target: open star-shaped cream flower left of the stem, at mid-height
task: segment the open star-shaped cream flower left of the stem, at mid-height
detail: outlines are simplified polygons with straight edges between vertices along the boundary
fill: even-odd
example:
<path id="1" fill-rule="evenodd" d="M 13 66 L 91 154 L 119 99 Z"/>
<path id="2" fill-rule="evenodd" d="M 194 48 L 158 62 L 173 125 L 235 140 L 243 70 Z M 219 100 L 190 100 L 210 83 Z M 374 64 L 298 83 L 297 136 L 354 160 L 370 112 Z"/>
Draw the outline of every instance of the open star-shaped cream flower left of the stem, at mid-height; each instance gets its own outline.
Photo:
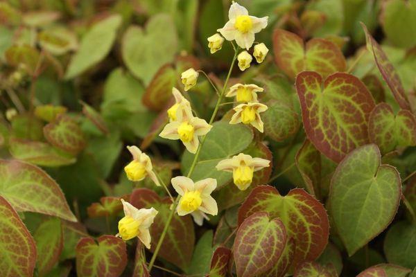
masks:
<path id="1" fill-rule="evenodd" d="M 176 113 L 175 121 L 166 124 L 159 136 L 164 139 L 180 139 L 187 150 L 196 153 L 198 149 L 198 136 L 203 136 L 212 128 L 207 121 L 192 115 L 188 109 Z"/>

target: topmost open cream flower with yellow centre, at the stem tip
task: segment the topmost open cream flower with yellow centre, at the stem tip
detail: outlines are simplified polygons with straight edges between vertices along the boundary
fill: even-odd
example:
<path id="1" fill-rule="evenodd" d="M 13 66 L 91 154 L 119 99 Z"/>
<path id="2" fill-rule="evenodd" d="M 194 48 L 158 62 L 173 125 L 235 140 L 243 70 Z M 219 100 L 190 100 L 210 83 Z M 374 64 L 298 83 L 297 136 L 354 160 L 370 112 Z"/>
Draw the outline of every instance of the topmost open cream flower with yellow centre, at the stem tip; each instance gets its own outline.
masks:
<path id="1" fill-rule="evenodd" d="M 223 28 L 218 29 L 225 39 L 236 43 L 247 50 L 253 45 L 254 34 L 266 28 L 268 17 L 252 17 L 248 10 L 238 3 L 232 2 L 228 11 L 228 21 Z"/>

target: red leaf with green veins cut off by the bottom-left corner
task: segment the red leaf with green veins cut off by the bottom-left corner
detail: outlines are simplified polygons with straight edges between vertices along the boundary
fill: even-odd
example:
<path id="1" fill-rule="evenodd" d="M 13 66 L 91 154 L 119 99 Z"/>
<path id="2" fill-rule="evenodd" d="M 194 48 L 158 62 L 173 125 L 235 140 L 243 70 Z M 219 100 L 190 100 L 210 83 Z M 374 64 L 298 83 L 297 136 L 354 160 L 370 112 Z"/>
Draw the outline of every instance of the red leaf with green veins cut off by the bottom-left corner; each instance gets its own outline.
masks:
<path id="1" fill-rule="evenodd" d="M 36 245 L 15 209 L 0 196 L 0 272 L 4 277 L 33 276 Z"/>

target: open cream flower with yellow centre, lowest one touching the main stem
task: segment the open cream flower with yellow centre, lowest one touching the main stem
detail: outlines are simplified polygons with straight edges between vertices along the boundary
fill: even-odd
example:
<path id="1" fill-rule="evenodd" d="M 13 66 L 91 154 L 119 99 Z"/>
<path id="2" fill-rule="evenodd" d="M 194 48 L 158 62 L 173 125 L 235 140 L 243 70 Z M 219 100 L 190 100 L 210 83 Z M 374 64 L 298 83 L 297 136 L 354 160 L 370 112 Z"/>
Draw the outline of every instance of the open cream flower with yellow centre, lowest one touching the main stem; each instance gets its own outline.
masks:
<path id="1" fill-rule="evenodd" d="M 208 220 L 205 213 L 209 215 L 218 214 L 218 206 L 211 193 L 216 189 L 216 179 L 207 178 L 196 183 L 192 179 L 178 176 L 171 180 L 173 188 L 181 196 L 177 205 L 178 215 L 191 214 L 198 225 L 202 225 L 204 218 Z"/>

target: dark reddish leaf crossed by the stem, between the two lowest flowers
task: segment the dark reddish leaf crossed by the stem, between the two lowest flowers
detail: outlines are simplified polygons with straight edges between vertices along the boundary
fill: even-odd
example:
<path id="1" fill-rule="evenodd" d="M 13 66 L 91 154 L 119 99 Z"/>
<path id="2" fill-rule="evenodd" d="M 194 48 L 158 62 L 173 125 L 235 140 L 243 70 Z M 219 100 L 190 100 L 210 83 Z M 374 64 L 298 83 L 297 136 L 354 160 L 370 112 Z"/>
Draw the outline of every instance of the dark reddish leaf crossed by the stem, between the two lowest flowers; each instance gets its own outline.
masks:
<path id="1" fill-rule="evenodd" d="M 132 192 L 130 203 L 136 208 L 153 207 L 159 212 L 150 226 L 152 237 L 150 251 L 153 252 L 171 213 L 171 199 L 168 197 L 162 199 L 148 188 L 137 188 Z M 179 216 L 175 213 L 158 256 L 172 262 L 180 269 L 187 269 L 189 262 L 191 262 L 194 244 L 195 232 L 191 216 Z"/>

